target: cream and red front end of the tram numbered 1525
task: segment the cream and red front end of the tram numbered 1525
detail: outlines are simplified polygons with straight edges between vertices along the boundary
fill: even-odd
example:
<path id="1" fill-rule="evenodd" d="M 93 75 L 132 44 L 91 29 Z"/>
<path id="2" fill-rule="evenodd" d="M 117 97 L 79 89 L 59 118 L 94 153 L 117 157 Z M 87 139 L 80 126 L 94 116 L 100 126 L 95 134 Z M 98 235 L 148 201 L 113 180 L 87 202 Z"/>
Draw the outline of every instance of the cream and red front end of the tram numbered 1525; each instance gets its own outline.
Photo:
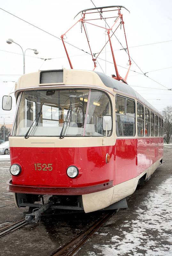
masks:
<path id="1" fill-rule="evenodd" d="M 114 96 L 108 89 L 92 71 L 19 79 L 8 181 L 17 207 L 33 207 L 43 195 L 58 209 L 91 212 L 111 204 Z"/>

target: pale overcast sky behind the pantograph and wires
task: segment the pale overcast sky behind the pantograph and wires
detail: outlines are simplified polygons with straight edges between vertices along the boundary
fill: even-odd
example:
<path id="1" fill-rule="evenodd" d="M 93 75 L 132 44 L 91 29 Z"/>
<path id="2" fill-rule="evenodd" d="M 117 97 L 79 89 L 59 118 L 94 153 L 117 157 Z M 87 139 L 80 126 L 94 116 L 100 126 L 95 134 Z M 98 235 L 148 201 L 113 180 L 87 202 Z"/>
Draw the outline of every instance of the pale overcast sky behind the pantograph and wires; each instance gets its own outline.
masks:
<path id="1" fill-rule="evenodd" d="M 153 80 L 172 88 L 172 1 L 164 0 L 93 0 L 97 6 L 123 5 L 129 9 L 130 13 L 122 9 L 123 19 L 130 56 L 136 62 L 132 61 L 131 69 L 142 73 L 148 72 Z M 45 1 L 45 0 L 6 0 L 1 1 L 0 8 L 10 12 L 23 20 L 49 32 L 50 34 L 60 37 L 72 26 L 80 16 L 74 16 L 83 9 L 93 8 L 94 5 L 90 0 L 85 1 Z M 23 74 L 23 56 L 20 47 L 16 44 L 7 44 L 6 40 L 12 38 L 20 44 L 23 50 L 27 48 L 36 48 L 39 51 L 35 55 L 33 51 L 27 50 L 26 55 L 26 73 L 46 69 L 70 68 L 66 58 L 62 42 L 56 37 L 49 35 L 38 28 L 35 28 L 26 22 L 12 16 L 11 14 L 0 9 L 0 86 L 2 100 L 3 95 L 8 95 L 15 85 L 14 82 Z M 105 26 L 105 21 L 101 21 Z M 112 21 L 111 21 L 112 22 Z M 107 23 L 111 24 L 110 20 Z M 93 46 L 93 52 L 99 52 L 107 37 L 104 30 L 96 29 L 87 25 L 90 37 L 90 43 Z M 124 44 L 122 30 L 118 31 L 117 37 Z M 106 38 L 105 38 L 106 37 Z M 67 42 L 88 52 L 88 46 L 84 34 L 81 34 L 80 25 L 78 24 L 73 30 L 67 33 Z M 168 42 L 167 42 L 168 41 Z M 161 43 L 160 43 L 161 42 Z M 144 45 L 148 44 L 148 45 Z M 141 46 L 142 45 L 142 46 Z M 137 46 L 137 47 L 136 47 Z M 93 69 L 93 62 L 90 55 L 78 50 L 70 45 L 66 45 L 73 67 L 76 69 Z M 118 65 L 127 68 L 128 57 L 121 45 L 114 38 L 113 49 L 115 50 L 116 62 Z M 100 58 L 112 62 L 112 56 L 109 53 L 109 47 L 100 55 Z M 41 60 L 51 59 L 51 60 Z M 98 60 L 100 66 L 97 71 L 105 72 L 108 76 L 115 74 L 114 66 L 106 63 L 104 60 Z M 139 69 L 138 67 L 141 69 Z M 102 71 L 103 69 L 103 71 Z M 161 69 L 161 70 L 159 70 Z M 155 71 L 157 70 L 157 71 Z M 126 74 L 126 69 L 119 67 L 119 73 L 122 77 Z M 127 79 L 129 85 L 148 100 L 155 108 L 162 111 L 167 105 L 172 105 L 172 91 L 162 85 L 152 81 L 144 75 L 137 74 L 133 71 L 129 73 Z M 148 88 L 143 88 L 148 87 Z M 153 89 L 152 89 L 153 88 Z M 1 106 L 1 105 L 0 105 Z M 13 96 L 12 110 L 4 111 L 0 107 L 0 117 L 5 118 L 6 124 L 12 124 L 15 114 L 15 99 Z M 8 116 L 10 118 L 8 118 Z M 0 123 L 3 123 L 0 118 Z"/>

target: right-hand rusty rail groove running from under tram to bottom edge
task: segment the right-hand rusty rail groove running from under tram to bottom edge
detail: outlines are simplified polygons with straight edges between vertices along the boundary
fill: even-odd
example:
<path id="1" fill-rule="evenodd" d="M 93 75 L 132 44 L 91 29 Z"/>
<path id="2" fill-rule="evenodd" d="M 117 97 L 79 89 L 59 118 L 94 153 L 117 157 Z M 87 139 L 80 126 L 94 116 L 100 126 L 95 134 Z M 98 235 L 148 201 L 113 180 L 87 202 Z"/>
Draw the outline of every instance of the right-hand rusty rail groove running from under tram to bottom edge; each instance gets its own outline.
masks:
<path id="1" fill-rule="evenodd" d="M 117 210 L 108 212 L 98 219 L 90 228 L 86 229 L 67 244 L 60 247 L 52 256 L 71 256 L 84 244 Z"/>

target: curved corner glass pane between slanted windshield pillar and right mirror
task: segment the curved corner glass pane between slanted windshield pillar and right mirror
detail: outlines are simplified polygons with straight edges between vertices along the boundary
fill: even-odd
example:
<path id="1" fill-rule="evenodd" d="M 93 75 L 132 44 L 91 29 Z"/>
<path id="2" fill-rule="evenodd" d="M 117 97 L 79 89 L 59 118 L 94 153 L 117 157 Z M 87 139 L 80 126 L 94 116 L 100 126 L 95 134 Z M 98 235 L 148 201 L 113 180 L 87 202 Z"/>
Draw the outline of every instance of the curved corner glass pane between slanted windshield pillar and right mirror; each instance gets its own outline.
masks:
<path id="1" fill-rule="evenodd" d="M 112 116 L 109 97 L 105 92 L 91 90 L 85 136 L 104 136 L 106 134 L 102 128 L 103 116 Z M 111 133 L 112 131 L 107 132 L 107 136 L 110 136 Z"/>

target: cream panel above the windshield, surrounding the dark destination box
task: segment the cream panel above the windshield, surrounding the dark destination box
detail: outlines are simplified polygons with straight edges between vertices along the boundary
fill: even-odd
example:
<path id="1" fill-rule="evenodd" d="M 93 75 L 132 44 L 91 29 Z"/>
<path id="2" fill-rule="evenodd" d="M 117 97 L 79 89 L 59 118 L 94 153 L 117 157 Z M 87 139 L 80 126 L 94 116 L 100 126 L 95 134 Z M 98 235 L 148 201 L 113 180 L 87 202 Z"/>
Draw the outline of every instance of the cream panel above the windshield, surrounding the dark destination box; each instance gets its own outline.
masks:
<path id="1" fill-rule="evenodd" d="M 53 83 L 46 84 L 47 86 L 51 85 L 94 85 L 106 88 L 106 85 L 102 82 L 98 74 L 93 71 L 88 70 L 75 70 L 75 69 L 63 69 L 63 83 Z M 40 71 L 35 73 L 30 73 L 23 75 L 19 78 L 16 90 L 20 90 L 22 88 L 28 88 L 39 86 L 40 88 L 45 86 L 45 84 L 40 84 Z M 109 91 L 113 92 L 112 88 L 108 88 Z"/>

